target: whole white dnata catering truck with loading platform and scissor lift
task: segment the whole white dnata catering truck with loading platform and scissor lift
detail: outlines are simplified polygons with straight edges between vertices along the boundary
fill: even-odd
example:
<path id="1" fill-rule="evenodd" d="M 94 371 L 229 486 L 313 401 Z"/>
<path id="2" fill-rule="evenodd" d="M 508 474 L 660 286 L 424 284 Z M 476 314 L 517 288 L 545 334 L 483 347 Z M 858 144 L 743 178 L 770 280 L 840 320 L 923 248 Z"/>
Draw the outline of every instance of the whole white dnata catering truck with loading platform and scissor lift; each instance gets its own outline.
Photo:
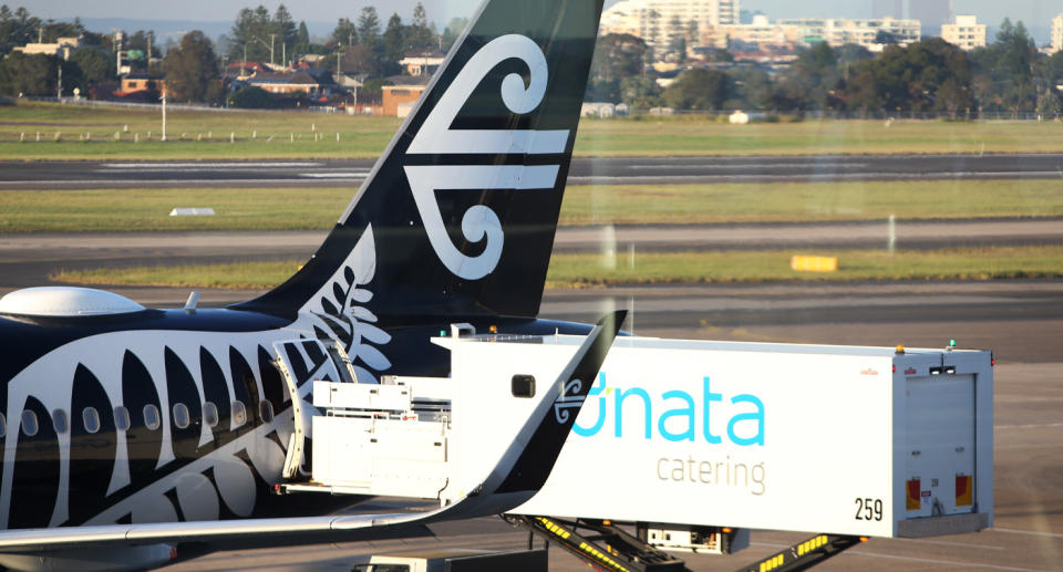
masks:
<path id="1" fill-rule="evenodd" d="M 537 392 L 581 340 L 455 326 L 435 340 L 448 378 L 316 382 L 312 478 L 286 486 L 445 505 L 550 398 L 559 419 L 578 412 L 574 433 L 509 518 L 603 570 L 663 566 L 657 548 L 731 552 L 750 529 L 817 533 L 758 568 L 782 570 L 791 552 L 992 527 L 989 352 L 618 337 L 585 403 Z"/>

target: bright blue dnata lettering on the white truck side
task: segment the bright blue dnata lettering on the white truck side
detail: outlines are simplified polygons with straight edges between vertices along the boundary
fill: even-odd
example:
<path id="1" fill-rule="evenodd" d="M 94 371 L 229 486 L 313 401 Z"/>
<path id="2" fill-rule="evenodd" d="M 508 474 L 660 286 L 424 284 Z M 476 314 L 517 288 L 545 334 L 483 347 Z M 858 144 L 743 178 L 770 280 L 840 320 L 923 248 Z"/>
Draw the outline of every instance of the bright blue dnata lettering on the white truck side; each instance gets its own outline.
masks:
<path id="1" fill-rule="evenodd" d="M 708 376 L 702 379 L 699 395 L 670 391 L 651 396 L 642 387 L 609 387 L 605 372 L 598 375 L 598 382 L 591 387 L 579 417 L 594 419 L 594 425 L 582 426 L 577 420 L 572 427 L 572 431 L 581 437 L 598 435 L 611 418 L 612 435 L 621 438 L 627 418 L 642 422 L 640 433 L 646 439 L 652 439 L 656 430 L 670 441 L 703 439 L 719 445 L 726 438 L 743 447 L 764 446 L 764 402 L 751 394 L 725 399 L 722 393 L 713 393 Z M 638 427 L 638 424 L 631 425 Z M 628 429 L 632 427 L 628 426 Z"/>

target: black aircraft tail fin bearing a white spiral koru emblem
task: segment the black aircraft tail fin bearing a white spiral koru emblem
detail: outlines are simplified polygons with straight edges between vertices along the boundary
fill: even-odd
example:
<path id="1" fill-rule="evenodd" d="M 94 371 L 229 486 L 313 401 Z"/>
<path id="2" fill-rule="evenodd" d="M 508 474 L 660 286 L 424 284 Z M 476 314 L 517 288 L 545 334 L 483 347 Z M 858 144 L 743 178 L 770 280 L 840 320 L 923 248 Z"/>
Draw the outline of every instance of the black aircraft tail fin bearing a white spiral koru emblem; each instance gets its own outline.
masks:
<path id="1" fill-rule="evenodd" d="M 293 315 L 357 274 L 390 323 L 536 315 L 601 6 L 486 0 L 314 257 L 237 308 Z"/>

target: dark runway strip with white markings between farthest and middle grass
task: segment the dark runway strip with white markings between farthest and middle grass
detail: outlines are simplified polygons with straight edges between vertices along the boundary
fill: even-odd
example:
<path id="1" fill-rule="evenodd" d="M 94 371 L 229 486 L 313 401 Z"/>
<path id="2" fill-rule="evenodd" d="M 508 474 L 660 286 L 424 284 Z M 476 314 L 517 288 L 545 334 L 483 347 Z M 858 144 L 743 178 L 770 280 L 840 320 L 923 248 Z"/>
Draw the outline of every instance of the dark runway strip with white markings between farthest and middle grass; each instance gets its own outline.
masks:
<path id="1" fill-rule="evenodd" d="M 3 188 L 355 186 L 371 159 L 261 162 L 3 162 Z M 858 155 L 576 158 L 570 185 L 1063 177 L 1063 155 Z"/>

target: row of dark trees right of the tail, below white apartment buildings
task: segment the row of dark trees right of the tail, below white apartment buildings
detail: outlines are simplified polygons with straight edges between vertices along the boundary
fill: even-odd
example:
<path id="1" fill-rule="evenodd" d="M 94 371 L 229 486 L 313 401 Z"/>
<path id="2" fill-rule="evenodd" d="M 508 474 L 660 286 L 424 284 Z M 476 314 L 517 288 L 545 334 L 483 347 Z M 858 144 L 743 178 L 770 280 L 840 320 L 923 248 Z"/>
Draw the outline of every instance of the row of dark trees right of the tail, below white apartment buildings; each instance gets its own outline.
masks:
<path id="1" fill-rule="evenodd" d="M 995 41 L 970 53 L 941 40 L 889 45 L 880 54 L 818 43 L 781 73 L 729 65 L 692 67 L 661 89 L 646 73 L 648 49 L 631 35 L 599 39 L 588 101 L 634 107 L 849 113 L 1063 113 L 1063 52 L 1041 54 L 1022 23 L 1005 20 Z"/>

